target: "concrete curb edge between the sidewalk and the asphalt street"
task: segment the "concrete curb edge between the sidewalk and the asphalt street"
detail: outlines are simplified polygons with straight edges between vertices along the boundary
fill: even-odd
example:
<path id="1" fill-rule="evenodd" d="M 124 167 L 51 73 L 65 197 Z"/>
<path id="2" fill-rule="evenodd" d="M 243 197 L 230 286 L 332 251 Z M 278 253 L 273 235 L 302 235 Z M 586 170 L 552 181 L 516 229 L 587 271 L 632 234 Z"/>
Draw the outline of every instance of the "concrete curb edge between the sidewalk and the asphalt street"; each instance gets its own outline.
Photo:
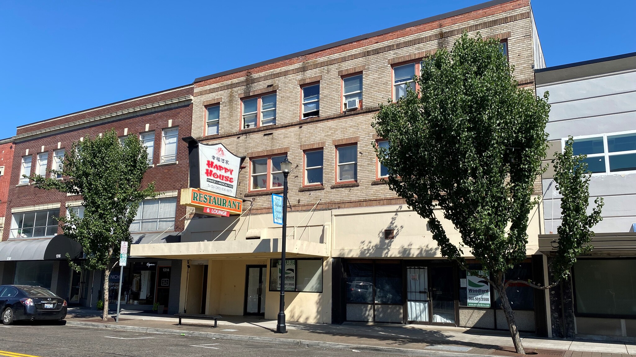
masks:
<path id="1" fill-rule="evenodd" d="M 182 333 L 187 333 L 188 336 L 207 337 L 207 338 L 221 339 L 221 340 L 265 342 L 265 343 L 272 343 L 272 344 L 286 344 L 286 345 L 292 345 L 292 346 L 305 346 L 305 347 L 318 347 L 318 348 L 331 348 L 331 349 L 356 349 L 359 352 L 393 353 L 393 354 L 401 354 L 404 356 L 422 356 L 422 357 L 425 357 L 425 356 L 439 356 L 439 357 L 493 356 L 493 357 L 496 357 L 492 354 L 473 354 L 473 353 L 462 353 L 462 352 L 437 351 L 434 349 L 423 350 L 423 349 L 408 349 L 408 348 L 397 348 L 397 347 L 367 346 L 367 345 L 357 345 L 357 344 L 343 344 L 338 342 L 282 339 L 280 337 L 230 335 L 226 333 L 216 333 L 216 332 L 183 331 L 183 330 L 171 330 L 169 328 L 109 325 L 104 323 L 90 323 L 90 322 L 79 322 L 79 321 L 66 321 L 66 325 L 78 326 L 78 327 L 90 327 L 90 328 L 105 328 L 107 330 L 123 330 L 123 331 L 146 332 L 146 333 L 169 333 L 171 335 L 181 335 Z"/>

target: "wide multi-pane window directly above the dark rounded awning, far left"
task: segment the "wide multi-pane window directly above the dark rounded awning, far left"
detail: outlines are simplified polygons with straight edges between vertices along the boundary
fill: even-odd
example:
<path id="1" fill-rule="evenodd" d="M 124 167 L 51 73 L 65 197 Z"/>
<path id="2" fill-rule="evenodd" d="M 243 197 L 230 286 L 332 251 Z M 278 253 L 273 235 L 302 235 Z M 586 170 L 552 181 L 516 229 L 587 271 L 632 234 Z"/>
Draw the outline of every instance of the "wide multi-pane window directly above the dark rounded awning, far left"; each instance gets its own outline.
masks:
<path id="1" fill-rule="evenodd" d="M 57 234 L 59 208 L 46 211 L 13 213 L 11 238 L 50 237 Z"/>

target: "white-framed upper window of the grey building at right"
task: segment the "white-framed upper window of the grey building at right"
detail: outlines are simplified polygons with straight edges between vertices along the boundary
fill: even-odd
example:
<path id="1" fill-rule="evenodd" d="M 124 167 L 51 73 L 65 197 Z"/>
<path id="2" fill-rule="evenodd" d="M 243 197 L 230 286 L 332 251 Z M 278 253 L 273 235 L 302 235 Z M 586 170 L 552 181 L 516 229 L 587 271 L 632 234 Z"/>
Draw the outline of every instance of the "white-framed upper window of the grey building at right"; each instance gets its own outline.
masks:
<path id="1" fill-rule="evenodd" d="M 591 173 L 636 171 L 636 132 L 575 138 L 572 149 L 588 156 L 584 161 Z"/>

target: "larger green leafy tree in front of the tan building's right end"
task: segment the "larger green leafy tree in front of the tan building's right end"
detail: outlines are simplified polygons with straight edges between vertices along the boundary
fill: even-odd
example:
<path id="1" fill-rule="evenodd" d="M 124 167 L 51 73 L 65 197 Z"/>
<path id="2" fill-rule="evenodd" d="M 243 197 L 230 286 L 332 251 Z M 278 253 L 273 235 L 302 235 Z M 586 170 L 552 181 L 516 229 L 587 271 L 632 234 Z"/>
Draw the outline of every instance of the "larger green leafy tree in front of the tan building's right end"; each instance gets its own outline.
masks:
<path id="1" fill-rule="evenodd" d="M 506 271 L 527 254 L 550 105 L 547 94 L 539 98 L 519 88 L 513 70 L 499 41 L 464 33 L 452 51 L 424 59 L 418 91 L 382 105 L 372 126 L 389 141 L 376 152 L 389 170 L 390 189 L 427 220 L 443 256 L 499 293 L 516 351 L 525 353 L 506 295 Z M 439 215 L 459 231 L 459 245 L 450 241 Z M 489 274 L 468 269 L 465 255 Z"/>

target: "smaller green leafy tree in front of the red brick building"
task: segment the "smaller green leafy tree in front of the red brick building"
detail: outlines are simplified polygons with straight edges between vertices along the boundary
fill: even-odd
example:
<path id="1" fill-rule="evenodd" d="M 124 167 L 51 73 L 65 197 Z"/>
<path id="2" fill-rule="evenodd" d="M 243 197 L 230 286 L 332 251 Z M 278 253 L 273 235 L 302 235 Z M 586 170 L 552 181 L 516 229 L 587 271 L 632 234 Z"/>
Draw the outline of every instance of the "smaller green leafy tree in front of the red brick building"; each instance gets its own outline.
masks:
<path id="1" fill-rule="evenodd" d="M 130 243 L 128 229 L 137 213 L 139 203 L 156 197 L 154 183 L 141 189 L 148 169 L 148 152 L 136 135 L 128 135 L 123 142 L 114 130 L 104 135 L 74 142 L 67 149 L 61 170 L 51 170 L 62 179 L 46 175 L 32 175 L 36 187 L 82 196 L 84 215 L 73 211 L 60 215 L 64 234 L 78 241 L 86 255 L 81 266 L 69 259 L 73 269 L 104 271 L 104 310 L 108 316 L 108 281 L 118 257 L 122 241 Z"/>

